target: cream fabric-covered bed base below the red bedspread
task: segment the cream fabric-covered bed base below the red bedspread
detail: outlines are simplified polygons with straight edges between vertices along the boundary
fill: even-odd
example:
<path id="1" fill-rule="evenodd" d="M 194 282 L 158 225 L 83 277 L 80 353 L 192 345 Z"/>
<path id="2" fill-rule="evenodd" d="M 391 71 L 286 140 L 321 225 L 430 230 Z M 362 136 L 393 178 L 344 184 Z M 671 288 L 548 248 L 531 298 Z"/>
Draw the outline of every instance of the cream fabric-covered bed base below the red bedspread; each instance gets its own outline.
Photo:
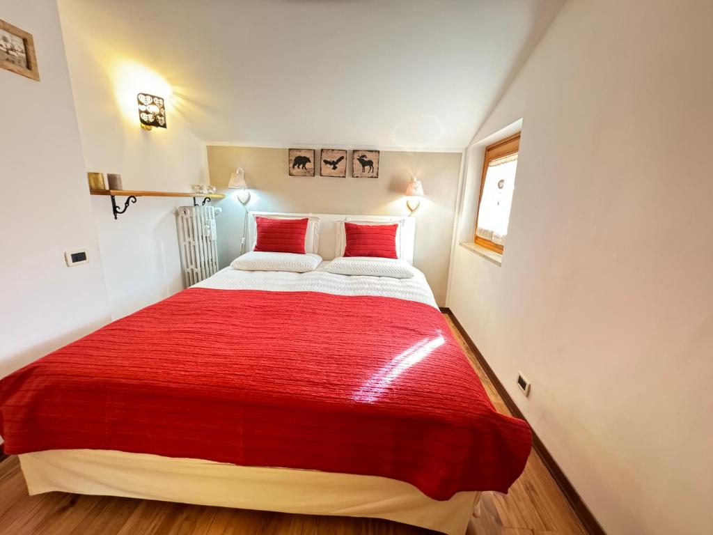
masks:
<path id="1" fill-rule="evenodd" d="M 240 467 L 94 449 L 19 455 L 30 494 L 50 491 L 284 513 L 366 516 L 463 535 L 480 509 L 480 492 L 447 501 L 403 481 L 314 470 Z"/>

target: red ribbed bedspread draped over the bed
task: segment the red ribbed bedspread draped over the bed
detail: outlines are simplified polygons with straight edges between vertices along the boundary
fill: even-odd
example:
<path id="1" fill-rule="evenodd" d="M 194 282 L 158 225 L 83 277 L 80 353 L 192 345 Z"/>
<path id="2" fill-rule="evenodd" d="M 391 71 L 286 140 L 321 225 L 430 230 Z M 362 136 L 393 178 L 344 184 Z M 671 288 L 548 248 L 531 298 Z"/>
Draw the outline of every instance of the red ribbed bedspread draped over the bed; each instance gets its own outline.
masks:
<path id="1" fill-rule="evenodd" d="M 530 429 L 498 414 L 438 310 L 191 288 L 0 381 L 8 454 L 116 449 L 507 491 Z"/>

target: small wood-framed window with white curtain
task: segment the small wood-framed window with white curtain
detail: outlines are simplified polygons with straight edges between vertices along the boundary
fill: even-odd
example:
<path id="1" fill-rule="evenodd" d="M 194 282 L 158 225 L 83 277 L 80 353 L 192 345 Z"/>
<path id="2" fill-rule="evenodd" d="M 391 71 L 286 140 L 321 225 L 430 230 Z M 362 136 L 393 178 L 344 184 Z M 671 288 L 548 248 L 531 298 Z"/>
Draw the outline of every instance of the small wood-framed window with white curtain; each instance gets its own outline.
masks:
<path id="1" fill-rule="evenodd" d="M 503 252 L 508 236 L 519 150 L 520 134 L 516 133 L 487 147 L 483 162 L 474 241 L 497 253 Z"/>

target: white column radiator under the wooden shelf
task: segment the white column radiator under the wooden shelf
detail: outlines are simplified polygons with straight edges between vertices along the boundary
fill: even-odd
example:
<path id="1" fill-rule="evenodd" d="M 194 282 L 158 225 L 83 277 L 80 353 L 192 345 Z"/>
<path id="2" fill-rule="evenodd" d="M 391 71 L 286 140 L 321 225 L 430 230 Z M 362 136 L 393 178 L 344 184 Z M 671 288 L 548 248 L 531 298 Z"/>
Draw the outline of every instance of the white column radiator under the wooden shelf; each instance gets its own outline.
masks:
<path id="1" fill-rule="evenodd" d="M 215 215 L 216 209 L 210 205 L 176 208 L 178 248 L 185 287 L 193 286 L 218 270 Z"/>

